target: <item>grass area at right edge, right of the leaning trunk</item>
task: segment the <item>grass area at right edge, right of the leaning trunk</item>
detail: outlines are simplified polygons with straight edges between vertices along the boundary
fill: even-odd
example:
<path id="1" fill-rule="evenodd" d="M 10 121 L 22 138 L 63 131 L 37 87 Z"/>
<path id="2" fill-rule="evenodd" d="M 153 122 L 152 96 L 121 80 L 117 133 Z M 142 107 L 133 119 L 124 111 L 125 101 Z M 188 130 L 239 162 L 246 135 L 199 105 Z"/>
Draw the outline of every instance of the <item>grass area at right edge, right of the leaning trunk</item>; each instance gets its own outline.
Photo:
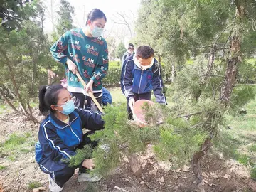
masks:
<path id="1" fill-rule="evenodd" d="M 231 157 L 240 164 L 249 166 L 251 177 L 256 179 L 256 99 L 251 100 L 244 108 L 247 110 L 247 114 L 237 117 L 230 114 L 225 116 L 231 129 L 223 129 L 222 131 L 225 134 L 223 137 L 225 146 L 228 146 L 224 152 L 230 153 Z"/>

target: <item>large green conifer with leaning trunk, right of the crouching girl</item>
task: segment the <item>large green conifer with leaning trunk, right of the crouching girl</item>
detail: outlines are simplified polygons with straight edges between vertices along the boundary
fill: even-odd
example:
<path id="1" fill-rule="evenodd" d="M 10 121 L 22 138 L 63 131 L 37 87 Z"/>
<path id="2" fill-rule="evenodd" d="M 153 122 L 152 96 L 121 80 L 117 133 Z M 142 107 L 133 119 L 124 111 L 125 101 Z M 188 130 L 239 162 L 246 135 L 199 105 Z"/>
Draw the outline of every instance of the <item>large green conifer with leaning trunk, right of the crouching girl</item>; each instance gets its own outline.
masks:
<path id="1" fill-rule="evenodd" d="M 221 142 L 225 114 L 237 114 L 255 97 L 252 87 L 238 86 L 237 82 L 238 77 L 253 75 L 247 58 L 255 50 L 251 45 L 256 42 L 252 38 L 256 18 L 252 7 L 256 4 L 239 0 L 231 4 L 207 0 L 142 3 L 149 5 L 145 13 L 151 14 L 139 16 L 142 30 L 138 36 L 145 37 L 151 46 L 157 44 L 156 50 L 166 61 L 175 58 L 179 66 L 176 82 L 167 92 L 172 104 L 146 109 L 148 122 L 155 122 L 161 114 L 164 123 L 144 129 L 127 123 L 124 105 L 108 106 L 105 129 L 92 136 L 100 139 L 93 151 L 95 172 L 109 173 L 123 156 L 144 152 L 151 143 L 159 159 L 171 160 L 175 166 L 191 163 L 200 183 L 200 161 L 213 140 Z M 159 27 L 152 30 L 148 26 Z M 193 65 L 183 65 L 186 55 L 195 58 Z M 100 147 L 103 145 L 108 150 Z"/>

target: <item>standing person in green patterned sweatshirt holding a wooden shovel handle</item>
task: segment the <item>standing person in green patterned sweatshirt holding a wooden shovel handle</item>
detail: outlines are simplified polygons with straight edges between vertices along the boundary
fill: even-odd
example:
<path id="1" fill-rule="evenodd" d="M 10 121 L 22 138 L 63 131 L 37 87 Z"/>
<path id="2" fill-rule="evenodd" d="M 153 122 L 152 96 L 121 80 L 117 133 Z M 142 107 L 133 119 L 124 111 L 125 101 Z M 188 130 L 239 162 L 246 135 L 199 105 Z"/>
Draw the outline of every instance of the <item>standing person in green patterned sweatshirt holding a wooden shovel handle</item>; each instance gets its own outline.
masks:
<path id="1" fill-rule="evenodd" d="M 102 38 L 107 18 L 100 9 L 92 9 L 88 14 L 85 28 L 67 31 L 50 48 L 53 58 L 63 63 L 68 79 L 68 91 L 76 97 L 75 106 L 90 110 L 93 103 L 88 92 L 93 92 L 102 104 L 102 79 L 108 70 L 107 42 Z M 78 72 L 87 86 L 82 87 Z M 86 97 L 85 97 L 86 96 Z"/>

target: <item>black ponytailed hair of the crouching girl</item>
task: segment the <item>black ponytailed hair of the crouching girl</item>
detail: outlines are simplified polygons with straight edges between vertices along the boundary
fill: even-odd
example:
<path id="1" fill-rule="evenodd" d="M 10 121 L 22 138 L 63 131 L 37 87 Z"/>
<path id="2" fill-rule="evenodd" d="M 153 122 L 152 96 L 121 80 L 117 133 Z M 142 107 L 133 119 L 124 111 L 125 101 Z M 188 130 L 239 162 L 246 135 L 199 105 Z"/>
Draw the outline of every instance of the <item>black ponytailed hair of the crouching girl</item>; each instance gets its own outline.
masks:
<path id="1" fill-rule="evenodd" d="M 65 89 L 60 84 L 43 85 L 39 90 L 39 110 L 43 115 L 54 112 L 50 105 L 56 105 L 58 102 L 58 94 L 60 90 Z"/>

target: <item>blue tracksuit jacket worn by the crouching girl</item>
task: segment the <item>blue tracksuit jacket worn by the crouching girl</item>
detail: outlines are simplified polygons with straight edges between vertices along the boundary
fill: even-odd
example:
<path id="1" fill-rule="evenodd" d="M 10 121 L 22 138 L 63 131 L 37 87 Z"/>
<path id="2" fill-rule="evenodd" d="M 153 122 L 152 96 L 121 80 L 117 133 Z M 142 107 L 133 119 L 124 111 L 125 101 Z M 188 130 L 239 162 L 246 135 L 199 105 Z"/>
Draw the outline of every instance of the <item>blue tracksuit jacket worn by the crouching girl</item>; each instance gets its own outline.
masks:
<path id="1" fill-rule="evenodd" d="M 82 128 L 103 129 L 103 119 L 99 112 L 75 108 L 70 114 L 69 124 L 57 119 L 53 113 L 41 122 L 36 144 L 36 161 L 41 170 L 52 174 L 66 165 L 62 159 L 75 155 L 76 147 L 82 142 Z"/>

